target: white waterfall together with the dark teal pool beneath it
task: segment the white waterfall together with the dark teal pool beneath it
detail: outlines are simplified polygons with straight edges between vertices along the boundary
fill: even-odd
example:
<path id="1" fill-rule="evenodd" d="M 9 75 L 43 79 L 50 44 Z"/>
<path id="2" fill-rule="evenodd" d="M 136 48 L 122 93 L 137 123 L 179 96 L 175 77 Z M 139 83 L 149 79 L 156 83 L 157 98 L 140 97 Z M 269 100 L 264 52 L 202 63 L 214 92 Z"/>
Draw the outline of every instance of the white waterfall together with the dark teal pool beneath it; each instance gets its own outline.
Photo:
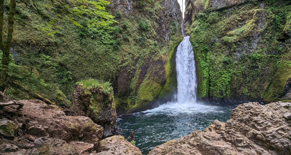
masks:
<path id="1" fill-rule="evenodd" d="M 215 119 L 225 122 L 235 108 L 235 105 L 204 105 L 196 101 L 196 69 L 189 38 L 184 36 L 176 51 L 178 102 L 167 102 L 154 109 L 118 117 L 123 136 L 130 140 L 130 131 L 134 130 L 136 146 L 144 155 L 168 140 L 205 129 Z"/>

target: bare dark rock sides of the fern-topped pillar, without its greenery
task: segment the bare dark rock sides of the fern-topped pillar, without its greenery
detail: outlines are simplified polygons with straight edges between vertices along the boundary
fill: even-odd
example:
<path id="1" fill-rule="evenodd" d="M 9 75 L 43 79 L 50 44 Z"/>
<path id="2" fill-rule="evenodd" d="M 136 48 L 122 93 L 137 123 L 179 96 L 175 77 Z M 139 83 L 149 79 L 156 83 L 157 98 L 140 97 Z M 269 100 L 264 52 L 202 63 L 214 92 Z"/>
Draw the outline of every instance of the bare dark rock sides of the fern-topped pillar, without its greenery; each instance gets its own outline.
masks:
<path id="1" fill-rule="evenodd" d="M 73 106 L 75 116 L 87 116 L 103 127 L 103 138 L 113 136 L 117 131 L 117 114 L 115 110 L 114 100 L 104 101 L 103 99 L 94 100 L 90 103 L 92 94 L 85 94 L 81 85 L 77 85 L 74 89 Z M 89 107 L 93 108 L 93 111 Z"/>

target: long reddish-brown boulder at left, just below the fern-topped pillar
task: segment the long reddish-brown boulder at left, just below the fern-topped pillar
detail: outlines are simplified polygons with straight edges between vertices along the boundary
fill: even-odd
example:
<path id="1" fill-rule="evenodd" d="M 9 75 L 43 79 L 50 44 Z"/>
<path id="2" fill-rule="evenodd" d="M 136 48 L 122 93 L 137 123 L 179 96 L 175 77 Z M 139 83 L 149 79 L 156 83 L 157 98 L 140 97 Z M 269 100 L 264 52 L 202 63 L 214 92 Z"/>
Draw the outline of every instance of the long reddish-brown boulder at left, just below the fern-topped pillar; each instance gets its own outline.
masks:
<path id="1" fill-rule="evenodd" d="M 39 138 L 59 138 L 94 142 L 95 147 L 102 139 L 103 128 L 95 124 L 89 117 L 66 116 L 61 109 L 54 105 L 44 104 L 39 100 L 22 100 L 25 106 L 19 110 L 27 120 L 25 124 L 29 135 Z"/>

